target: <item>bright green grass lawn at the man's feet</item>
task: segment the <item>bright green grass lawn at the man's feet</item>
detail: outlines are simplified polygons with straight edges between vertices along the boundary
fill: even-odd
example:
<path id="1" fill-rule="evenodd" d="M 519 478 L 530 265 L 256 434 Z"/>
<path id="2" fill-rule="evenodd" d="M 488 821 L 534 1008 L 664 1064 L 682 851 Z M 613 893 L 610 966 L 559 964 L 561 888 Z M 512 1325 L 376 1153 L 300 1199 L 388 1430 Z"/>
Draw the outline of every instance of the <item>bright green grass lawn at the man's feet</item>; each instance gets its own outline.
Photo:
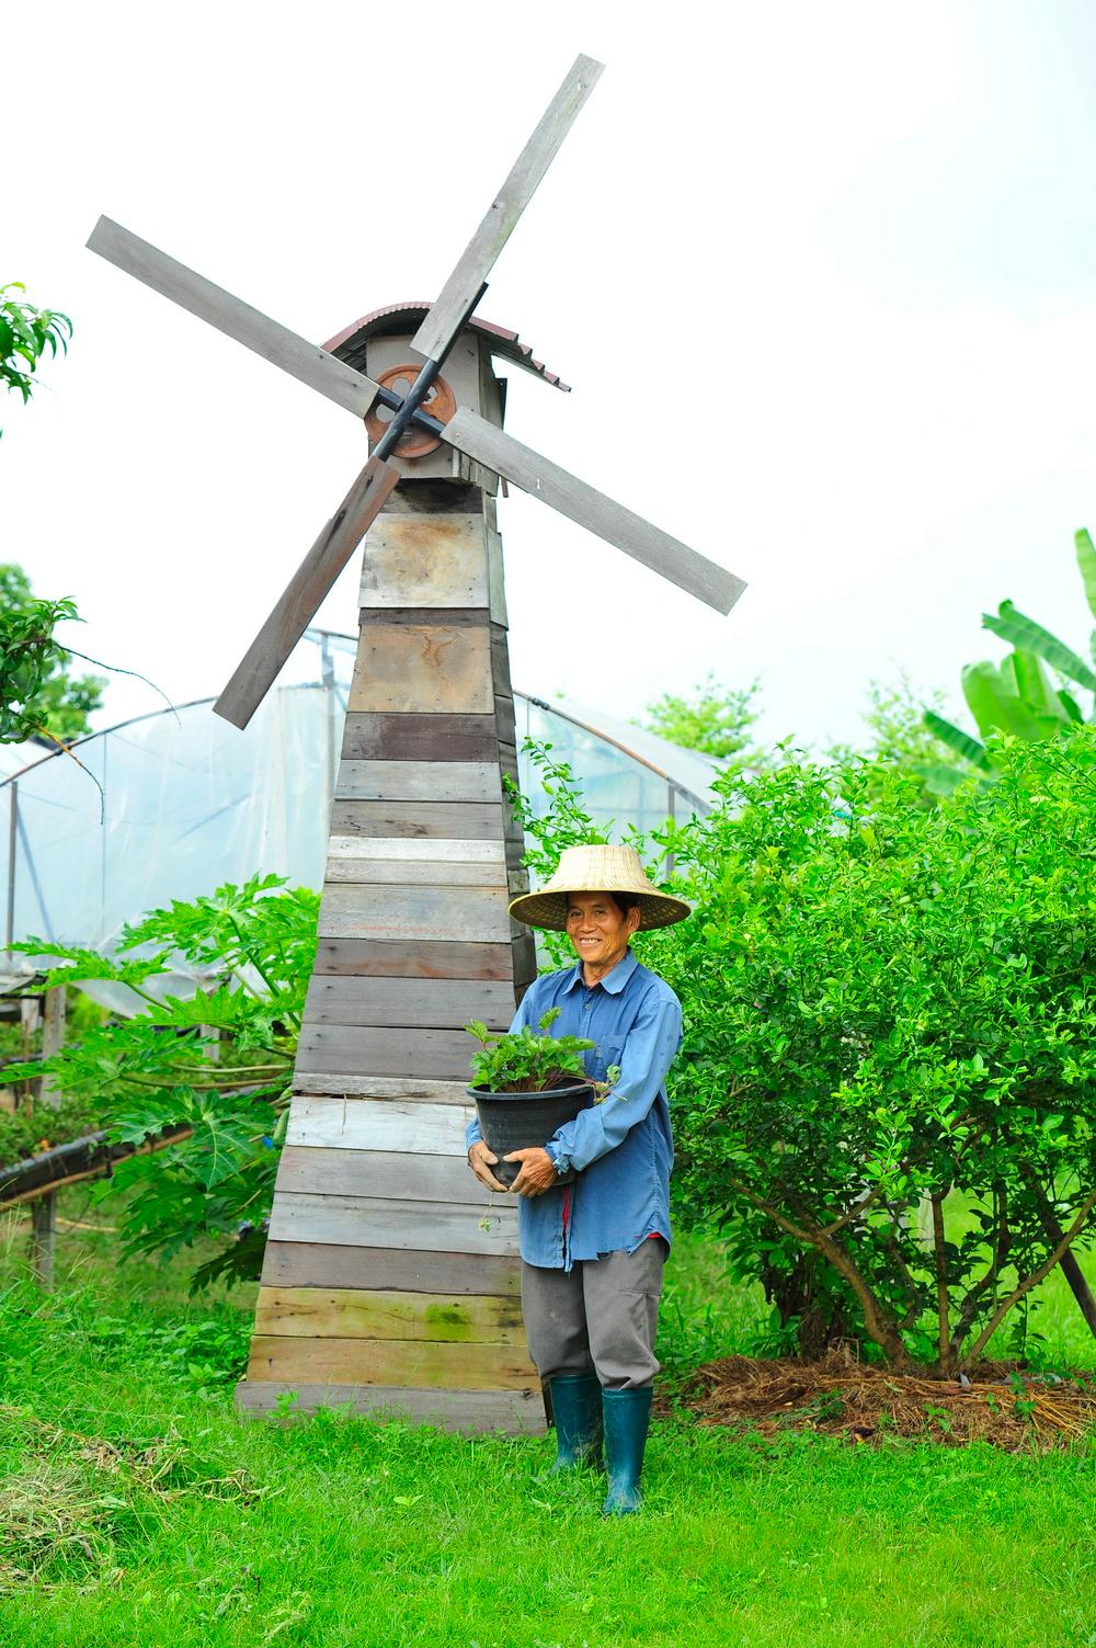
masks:
<path id="1" fill-rule="evenodd" d="M 43 1297 L 21 1229 L 0 1259 L 2 1648 L 1096 1648 L 1096 1450 L 674 1419 L 644 1513 L 605 1523 L 597 1477 L 542 1475 L 547 1439 L 237 1419 L 247 1299 L 188 1302 L 180 1269 L 119 1267 L 82 1231 Z M 682 1323 L 717 1272 L 682 1248 Z M 756 1305 L 704 1332 L 763 1330 Z"/>

